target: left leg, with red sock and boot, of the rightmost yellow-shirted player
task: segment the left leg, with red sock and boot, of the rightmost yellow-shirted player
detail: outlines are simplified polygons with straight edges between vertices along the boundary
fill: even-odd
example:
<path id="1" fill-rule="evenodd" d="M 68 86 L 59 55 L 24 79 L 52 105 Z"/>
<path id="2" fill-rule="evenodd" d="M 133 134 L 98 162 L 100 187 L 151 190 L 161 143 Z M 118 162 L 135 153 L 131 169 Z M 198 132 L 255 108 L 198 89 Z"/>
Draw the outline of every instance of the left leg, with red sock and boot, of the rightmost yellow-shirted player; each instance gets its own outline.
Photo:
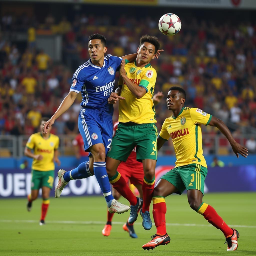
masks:
<path id="1" fill-rule="evenodd" d="M 160 179 L 153 191 L 153 218 L 156 226 L 156 234 L 152 239 L 144 244 L 144 250 L 154 249 L 159 245 L 165 245 L 170 242 L 170 237 L 166 232 L 166 204 L 165 197 L 176 192 L 177 188 L 165 179 Z"/>

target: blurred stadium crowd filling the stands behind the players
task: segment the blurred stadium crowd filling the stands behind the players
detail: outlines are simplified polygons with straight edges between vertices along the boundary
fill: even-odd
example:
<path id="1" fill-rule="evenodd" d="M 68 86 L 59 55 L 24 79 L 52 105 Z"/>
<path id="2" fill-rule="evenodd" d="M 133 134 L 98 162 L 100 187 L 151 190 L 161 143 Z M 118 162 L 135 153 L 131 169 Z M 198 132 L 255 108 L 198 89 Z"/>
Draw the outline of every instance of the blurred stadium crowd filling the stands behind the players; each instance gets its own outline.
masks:
<path id="1" fill-rule="evenodd" d="M 84 14 L 56 20 L 49 14 L 41 24 L 36 18 L 6 13 L 0 34 L 0 134 L 30 135 L 37 131 L 42 116 L 56 111 L 69 92 L 73 72 L 89 58 L 88 36 L 93 33 L 105 35 L 108 53 L 115 56 L 136 52 L 143 34 L 157 36 L 164 52 L 151 63 L 157 71 L 155 92 L 166 95 L 171 86 L 182 86 L 187 91 L 186 106 L 235 124 L 232 127 L 238 134 L 243 127 L 256 128 L 256 25 L 218 26 L 210 20 L 184 19 L 181 31 L 167 37 L 157 22 L 147 17 L 142 23 L 124 15 L 113 22 L 110 16 L 99 20 Z M 27 33 L 26 47 L 9 39 L 14 31 Z M 61 63 L 37 48 L 40 34 L 62 35 Z M 72 109 L 55 122 L 54 133 L 77 134 L 80 102 L 78 97 Z M 156 113 L 160 130 L 170 114 L 165 99 L 156 106 Z M 115 108 L 113 121 L 117 119 Z M 204 132 L 214 135 L 216 130 L 206 127 Z"/>

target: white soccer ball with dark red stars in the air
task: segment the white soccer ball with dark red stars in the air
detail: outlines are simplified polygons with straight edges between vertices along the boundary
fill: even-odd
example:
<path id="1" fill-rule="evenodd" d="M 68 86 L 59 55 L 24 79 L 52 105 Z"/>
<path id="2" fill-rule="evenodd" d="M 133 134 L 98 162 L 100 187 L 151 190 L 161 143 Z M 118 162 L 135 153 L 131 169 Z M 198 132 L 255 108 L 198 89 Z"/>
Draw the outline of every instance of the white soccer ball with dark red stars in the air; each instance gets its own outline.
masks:
<path id="1" fill-rule="evenodd" d="M 181 21 L 177 15 L 166 13 L 159 19 L 158 28 L 166 36 L 175 35 L 180 31 Z"/>

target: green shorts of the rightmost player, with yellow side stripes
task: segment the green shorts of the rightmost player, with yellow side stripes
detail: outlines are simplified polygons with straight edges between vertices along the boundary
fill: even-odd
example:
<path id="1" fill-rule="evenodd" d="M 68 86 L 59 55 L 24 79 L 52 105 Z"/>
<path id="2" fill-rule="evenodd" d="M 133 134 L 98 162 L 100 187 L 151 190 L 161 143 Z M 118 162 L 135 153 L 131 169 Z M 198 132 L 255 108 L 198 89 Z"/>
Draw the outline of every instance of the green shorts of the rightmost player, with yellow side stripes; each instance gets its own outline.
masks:
<path id="1" fill-rule="evenodd" d="M 163 175 L 161 179 L 172 183 L 178 189 L 175 193 L 179 195 L 181 195 L 185 189 L 197 189 L 204 195 L 206 175 L 206 167 L 200 164 L 188 164 L 173 168 Z"/>

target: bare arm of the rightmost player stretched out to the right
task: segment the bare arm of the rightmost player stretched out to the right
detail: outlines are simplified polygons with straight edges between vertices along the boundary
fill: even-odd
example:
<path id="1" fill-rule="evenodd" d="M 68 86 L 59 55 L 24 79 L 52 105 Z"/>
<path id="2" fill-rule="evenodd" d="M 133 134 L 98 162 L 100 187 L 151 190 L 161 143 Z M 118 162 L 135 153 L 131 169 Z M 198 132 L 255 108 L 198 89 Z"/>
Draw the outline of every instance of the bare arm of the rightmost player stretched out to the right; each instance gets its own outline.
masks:
<path id="1" fill-rule="evenodd" d="M 215 116 L 212 116 L 209 125 L 215 126 L 221 131 L 221 133 L 228 139 L 232 150 L 237 157 L 239 157 L 238 153 L 244 157 L 248 156 L 248 149 L 235 141 L 227 125 L 222 120 L 218 119 Z"/>

